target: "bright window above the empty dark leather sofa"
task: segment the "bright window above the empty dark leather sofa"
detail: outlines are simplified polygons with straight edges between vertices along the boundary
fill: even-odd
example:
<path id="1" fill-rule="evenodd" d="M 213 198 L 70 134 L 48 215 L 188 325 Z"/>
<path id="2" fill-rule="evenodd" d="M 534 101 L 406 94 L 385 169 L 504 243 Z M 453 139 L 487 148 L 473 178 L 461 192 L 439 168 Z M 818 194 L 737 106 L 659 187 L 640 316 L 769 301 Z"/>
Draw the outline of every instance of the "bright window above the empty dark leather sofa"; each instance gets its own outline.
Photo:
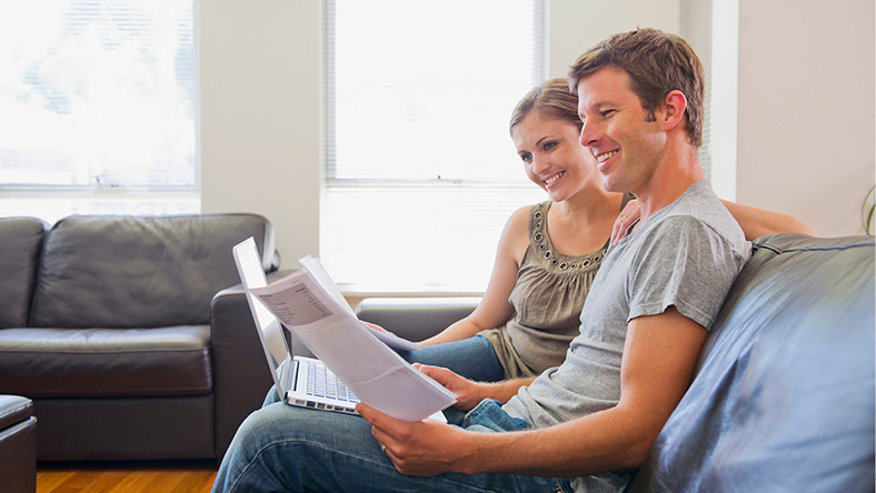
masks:
<path id="1" fill-rule="evenodd" d="M 0 215 L 200 209 L 192 0 L 0 6 Z"/>

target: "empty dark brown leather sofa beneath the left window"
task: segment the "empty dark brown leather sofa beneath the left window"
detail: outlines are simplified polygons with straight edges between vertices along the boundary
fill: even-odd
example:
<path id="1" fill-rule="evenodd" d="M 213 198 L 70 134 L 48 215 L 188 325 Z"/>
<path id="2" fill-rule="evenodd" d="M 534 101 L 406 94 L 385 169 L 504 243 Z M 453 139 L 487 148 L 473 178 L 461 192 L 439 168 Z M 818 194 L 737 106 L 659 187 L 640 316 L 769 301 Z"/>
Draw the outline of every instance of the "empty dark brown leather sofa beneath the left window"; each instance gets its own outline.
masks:
<path id="1" fill-rule="evenodd" d="M 221 460 L 271 384 L 222 303 L 248 237 L 275 271 L 256 214 L 0 219 L 0 394 L 32 400 L 39 460 Z"/>

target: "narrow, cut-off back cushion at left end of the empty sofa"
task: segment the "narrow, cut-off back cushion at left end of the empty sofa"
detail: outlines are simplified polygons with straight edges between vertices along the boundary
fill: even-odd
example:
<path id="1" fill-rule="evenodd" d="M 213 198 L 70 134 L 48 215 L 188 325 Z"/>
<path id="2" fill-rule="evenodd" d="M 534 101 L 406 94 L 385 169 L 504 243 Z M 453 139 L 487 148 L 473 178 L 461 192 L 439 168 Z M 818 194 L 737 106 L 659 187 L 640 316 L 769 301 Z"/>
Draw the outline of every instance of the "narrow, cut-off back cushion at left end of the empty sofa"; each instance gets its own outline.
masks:
<path id="1" fill-rule="evenodd" d="M 47 228 L 37 218 L 0 218 L 0 329 L 28 324 Z"/>

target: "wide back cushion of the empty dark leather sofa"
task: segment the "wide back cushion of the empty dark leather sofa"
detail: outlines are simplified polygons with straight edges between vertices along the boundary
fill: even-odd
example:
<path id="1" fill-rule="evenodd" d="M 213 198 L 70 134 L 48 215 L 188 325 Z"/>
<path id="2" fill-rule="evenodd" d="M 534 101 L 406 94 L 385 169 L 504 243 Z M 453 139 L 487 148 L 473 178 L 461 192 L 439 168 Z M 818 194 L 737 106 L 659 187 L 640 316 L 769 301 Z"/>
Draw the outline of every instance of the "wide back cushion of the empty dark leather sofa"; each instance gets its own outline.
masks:
<path id="1" fill-rule="evenodd" d="M 239 283 L 231 249 L 253 237 L 273 253 L 256 214 L 73 215 L 48 232 L 30 325 L 157 328 L 207 324 L 210 300 Z"/>

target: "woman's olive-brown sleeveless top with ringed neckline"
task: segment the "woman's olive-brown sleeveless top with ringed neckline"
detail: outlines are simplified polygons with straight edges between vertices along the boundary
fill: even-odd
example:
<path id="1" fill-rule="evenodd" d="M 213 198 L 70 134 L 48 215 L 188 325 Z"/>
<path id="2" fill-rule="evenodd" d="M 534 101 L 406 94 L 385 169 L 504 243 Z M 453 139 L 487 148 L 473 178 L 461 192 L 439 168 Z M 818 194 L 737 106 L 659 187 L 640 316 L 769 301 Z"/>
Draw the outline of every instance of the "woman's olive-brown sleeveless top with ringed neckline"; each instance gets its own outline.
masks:
<path id="1" fill-rule="evenodd" d="M 624 198 L 624 205 L 628 200 Z M 508 299 L 515 318 L 502 328 L 480 332 L 496 349 L 508 379 L 535 376 L 563 363 L 578 335 L 584 300 L 608 249 L 606 241 L 586 255 L 557 252 L 547 234 L 549 207 L 550 201 L 545 201 L 529 211 L 529 247 Z"/>

